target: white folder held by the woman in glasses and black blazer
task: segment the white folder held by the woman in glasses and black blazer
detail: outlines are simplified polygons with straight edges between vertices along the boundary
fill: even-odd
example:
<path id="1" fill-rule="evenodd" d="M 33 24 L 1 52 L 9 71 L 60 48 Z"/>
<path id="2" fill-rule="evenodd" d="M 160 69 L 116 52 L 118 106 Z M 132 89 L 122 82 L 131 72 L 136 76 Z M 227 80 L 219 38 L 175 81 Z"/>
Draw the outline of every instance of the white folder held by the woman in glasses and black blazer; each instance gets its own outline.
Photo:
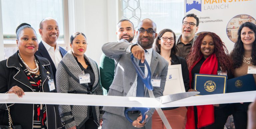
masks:
<path id="1" fill-rule="evenodd" d="M 186 92 L 182 78 L 181 65 L 169 65 L 164 95 Z"/>

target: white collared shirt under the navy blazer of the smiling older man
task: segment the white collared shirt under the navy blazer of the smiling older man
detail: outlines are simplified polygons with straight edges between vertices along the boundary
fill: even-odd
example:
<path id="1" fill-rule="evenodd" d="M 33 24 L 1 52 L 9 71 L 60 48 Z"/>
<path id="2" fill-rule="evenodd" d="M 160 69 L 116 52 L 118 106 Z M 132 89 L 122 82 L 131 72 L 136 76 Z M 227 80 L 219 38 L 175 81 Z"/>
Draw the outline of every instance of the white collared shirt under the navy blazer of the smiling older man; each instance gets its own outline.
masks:
<path id="1" fill-rule="evenodd" d="M 58 64 L 62 60 L 62 56 L 60 54 L 60 48 L 59 48 L 58 44 L 56 44 L 56 48 L 55 48 L 55 51 L 54 51 L 54 47 L 45 43 L 43 40 L 42 40 L 42 43 L 43 43 L 44 47 L 46 48 L 47 52 L 49 53 L 49 55 L 52 59 L 52 62 L 54 63 L 54 65 L 57 69 Z"/>

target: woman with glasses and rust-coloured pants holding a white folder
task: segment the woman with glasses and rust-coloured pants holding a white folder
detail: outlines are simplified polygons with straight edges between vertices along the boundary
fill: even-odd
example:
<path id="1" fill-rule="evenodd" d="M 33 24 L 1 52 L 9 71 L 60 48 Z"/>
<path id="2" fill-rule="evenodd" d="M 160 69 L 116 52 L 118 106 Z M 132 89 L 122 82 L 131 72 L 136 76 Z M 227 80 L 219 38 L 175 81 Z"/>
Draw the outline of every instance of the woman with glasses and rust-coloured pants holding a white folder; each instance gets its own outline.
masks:
<path id="1" fill-rule="evenodd" d="M 185 90 L 188 91 L 189 75 L 187 62 L 185 59 L 176 56 L 177 49 L 175 40 L 175 33 L 170 29 L 164 29 L 157 35 L 155 50 L 169 62 L 169 66 L 181 64 Z M 169 76 L 167 75 L 167 78 L 168 77 Z M 165 87 L 167 86 L 170 85 L 167 85 L 166 83 Z M 186 107 L 169 107 L 162 108 L 162 110 L 173 129 L 185 129 L 187 113 Z M 152 129 L 165 129 L 164 124 L 156 111 L 152 116 Z"/>

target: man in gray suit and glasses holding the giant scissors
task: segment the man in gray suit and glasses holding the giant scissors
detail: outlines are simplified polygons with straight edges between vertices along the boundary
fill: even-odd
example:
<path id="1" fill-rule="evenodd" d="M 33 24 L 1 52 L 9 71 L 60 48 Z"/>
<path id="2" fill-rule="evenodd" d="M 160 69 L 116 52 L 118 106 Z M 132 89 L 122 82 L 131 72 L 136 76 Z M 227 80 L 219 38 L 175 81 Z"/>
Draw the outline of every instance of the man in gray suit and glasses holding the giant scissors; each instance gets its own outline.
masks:
<path id="1" fill-rule="evenodd" d="M 122 39 L 119 42 L 104 44 L 102 47 L 103 53 L 107 57 L 114 59 L 117 63 L 114 80 L 109 87 L 108 95 L 137 96 L 137 72 L 131 62 L 131 54 L 141 60 L 141 63 L 144 63 L 144 60 L 149 63 L 152 73 L 151 77 L 161 77 L 161 83 L 159 86 L 154 87 L 153 93 L 155 97 L 163 95 L 168 62 L 152 48 L 154 39 L 157 36 L 156 24 L 150 19 L 144 19 L 140 22 L 138 28 L 137 44 L 132 44 Z M 139 60 L 137 60 L 137 62 L 139 62 Z M 147 75 L 146 67 L 145 75 Z M 143 96 L 149 97 L 146 87 L 144 88 Z M 135 111 L 128 113 L 130 118 L 134 120 L 133 123 L 130 123 L 125 118 L 125 109 L 126 107 L 103 107 L 105 113 L 103 115 L 102 129 L 136 129 L 136 127 L 151 129 L 151 116 L 154 112 L 154 108 L 150 109 L 147 113 L 146 121 L 142 124 L 139 123 L 142 119 L 140 112 Z"/>

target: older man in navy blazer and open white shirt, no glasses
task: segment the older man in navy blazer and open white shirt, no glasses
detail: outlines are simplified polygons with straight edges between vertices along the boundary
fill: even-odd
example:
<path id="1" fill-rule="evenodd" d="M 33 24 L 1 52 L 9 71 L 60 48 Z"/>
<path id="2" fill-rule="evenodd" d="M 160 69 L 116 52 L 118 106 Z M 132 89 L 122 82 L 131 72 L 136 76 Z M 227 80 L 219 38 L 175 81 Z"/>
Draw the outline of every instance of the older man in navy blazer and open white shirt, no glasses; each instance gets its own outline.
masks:
<path id="1" fill-rule="evenodd" d="M 56 68 L 67 51 L 58 46 L 59 26 L 53 18 L 45 18 L 39 24 L 42 41 L 38 45 L 36 55 L 49 60 L 55 80 Z"/>

